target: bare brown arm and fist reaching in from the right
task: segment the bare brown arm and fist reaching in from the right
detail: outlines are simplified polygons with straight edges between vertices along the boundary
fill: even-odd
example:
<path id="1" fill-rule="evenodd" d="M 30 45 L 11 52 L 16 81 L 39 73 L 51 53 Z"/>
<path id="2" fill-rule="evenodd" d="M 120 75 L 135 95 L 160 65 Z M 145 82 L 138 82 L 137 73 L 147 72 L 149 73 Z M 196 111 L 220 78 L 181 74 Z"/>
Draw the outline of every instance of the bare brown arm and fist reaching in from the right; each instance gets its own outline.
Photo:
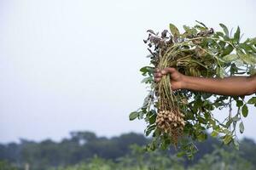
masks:
<path id="1" fill-rule="evenodd" d="M 154 81 L 160 82 L 161 77 L 170 75 L 172 90 L 189 89 L 211 94 L 242 96 L 256 93 L 256 76 L 204 78 L 189 77 L 181 74 L 175 68 L 155 70 Z"/>

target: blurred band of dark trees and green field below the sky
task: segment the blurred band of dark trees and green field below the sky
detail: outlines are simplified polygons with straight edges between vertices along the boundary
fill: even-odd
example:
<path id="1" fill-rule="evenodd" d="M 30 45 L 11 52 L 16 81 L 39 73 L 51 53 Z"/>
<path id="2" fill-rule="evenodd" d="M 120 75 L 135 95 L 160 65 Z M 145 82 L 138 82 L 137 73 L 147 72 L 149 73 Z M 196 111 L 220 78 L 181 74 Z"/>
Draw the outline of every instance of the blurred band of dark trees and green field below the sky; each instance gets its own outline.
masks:
<path id="1" fill-rule="evenodd" d="M 222 146 L 209 138 L 196 144 L 193 160 L 177 157 L 174 149 L 144 152 L 148 139 L 143 134 L 97 137 L 91 132 L 73 132 L 55 142 L 20 139 L 20 143 L 0 144 L 0 170 L 87 170 L 87 169 L 256 169 L 256 144 L 241 140 L 240 150 Z"/>

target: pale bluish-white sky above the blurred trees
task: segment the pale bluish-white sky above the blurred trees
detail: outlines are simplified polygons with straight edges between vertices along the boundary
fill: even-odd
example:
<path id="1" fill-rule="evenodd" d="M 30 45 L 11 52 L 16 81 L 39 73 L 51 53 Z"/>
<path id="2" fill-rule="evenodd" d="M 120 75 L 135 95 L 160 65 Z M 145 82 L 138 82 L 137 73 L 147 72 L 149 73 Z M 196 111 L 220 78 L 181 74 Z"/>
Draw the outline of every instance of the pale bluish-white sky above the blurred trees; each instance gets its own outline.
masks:
<path id="1" fill-rule="evenodd" d="M 0 143 L 143 133 L 128 115 L 146 94 L 145 31 L 201 20 L 256 37 L 255 8 L 253 0 L 0 0 Z M 255 108 L 244 122 L 241 137 L 256 139 Z"/>

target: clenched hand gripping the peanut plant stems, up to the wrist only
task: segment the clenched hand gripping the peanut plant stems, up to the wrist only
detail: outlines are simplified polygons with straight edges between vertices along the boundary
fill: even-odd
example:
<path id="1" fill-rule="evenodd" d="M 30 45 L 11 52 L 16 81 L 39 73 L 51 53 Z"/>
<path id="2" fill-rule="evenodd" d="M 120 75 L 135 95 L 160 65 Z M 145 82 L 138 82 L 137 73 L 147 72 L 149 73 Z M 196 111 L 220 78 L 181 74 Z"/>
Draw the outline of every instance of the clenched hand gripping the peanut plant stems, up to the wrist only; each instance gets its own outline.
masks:
<path id="1" fill-rule="evenodd" d="M 154 71 L 154 82 L 160 82 L 161 78 L 167 74 L 170 74 L 171 77 L 172 90 L 183 88 L 184 75 L 172 67 L 168 67 L 163 70 L 156 69 Z"/>

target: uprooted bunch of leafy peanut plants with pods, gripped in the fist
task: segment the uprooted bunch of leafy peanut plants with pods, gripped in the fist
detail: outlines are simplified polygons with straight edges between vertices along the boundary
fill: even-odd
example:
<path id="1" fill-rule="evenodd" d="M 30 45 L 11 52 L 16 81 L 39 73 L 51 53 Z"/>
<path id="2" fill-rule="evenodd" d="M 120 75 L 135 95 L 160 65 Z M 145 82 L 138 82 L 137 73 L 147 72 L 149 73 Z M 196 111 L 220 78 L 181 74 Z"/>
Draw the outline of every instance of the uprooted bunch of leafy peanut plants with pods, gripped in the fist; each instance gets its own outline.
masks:
<path id="1" fill-rule="evenodd" d="M 223 31 L 213 31 L 196 21 L 195 26 L 183 26 L 184 32 L 170 24 L 170 31 L 156 33 L 148 30 L 150 64 L 144 66 L 143 82 L 149 85 L 149 94 L 143 106 L 130 114 L 147 122 L 146 135 L 153 139 L 148 150 L 169 149 L 175 145 L 178 154 L 192 158 L 197 151 L 195 141 L 207 139 L 207 133 L 223 144 L 234 144 L 238 149 L 236 127 L 244 132 L 243 118 L 248 115 L 247 105 L 256 106 L 256 97 L 248 101 L 244 96 L 222 96 L 180 89 L 172 91 L 169 76 L 154 82 L 154 69 L 174 67 L 184 75 L 193 77 L 230 77 L 255 74 L 256 38 L 241 41 L 238 26 L 232 33 L 220 24 Z M 236 110 L 232 110 L 236 104 Z M 212 114 L 215 109 L 229 108 L 224 122 Z M 207 131 L 206 131 L 207 130 Z"/>

